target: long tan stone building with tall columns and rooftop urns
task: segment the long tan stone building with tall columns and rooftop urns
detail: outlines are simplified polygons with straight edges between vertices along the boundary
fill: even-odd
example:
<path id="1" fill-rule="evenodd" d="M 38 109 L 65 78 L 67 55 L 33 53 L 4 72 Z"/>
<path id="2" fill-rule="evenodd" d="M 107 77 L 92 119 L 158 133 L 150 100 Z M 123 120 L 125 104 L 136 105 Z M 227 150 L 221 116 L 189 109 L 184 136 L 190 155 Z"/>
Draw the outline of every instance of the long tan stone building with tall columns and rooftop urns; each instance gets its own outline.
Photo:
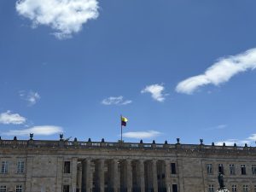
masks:
<path id="1" fill-rule="evenodd" d="M 0 140 L 0 192 L 256 191 L 256 148 Z"/>

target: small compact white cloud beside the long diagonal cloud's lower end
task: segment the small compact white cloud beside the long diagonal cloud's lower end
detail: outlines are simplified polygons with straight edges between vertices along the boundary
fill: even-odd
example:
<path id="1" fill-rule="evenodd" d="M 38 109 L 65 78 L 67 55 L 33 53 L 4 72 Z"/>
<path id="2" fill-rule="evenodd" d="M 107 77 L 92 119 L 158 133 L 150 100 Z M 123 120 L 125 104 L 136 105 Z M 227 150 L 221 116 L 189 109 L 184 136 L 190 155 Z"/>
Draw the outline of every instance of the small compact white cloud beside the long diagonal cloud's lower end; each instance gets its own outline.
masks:
<path id="1" fill-rule="evenodd" d="M 152 98 L 157 102 L 164 102 L 165 96 L 163 95 L 163 91 L 165 90 L 165 87 L 161 84 L 151 84 L 146 86 L 143 90 L 141 90 L 141 93 L 150 93 Z"/>

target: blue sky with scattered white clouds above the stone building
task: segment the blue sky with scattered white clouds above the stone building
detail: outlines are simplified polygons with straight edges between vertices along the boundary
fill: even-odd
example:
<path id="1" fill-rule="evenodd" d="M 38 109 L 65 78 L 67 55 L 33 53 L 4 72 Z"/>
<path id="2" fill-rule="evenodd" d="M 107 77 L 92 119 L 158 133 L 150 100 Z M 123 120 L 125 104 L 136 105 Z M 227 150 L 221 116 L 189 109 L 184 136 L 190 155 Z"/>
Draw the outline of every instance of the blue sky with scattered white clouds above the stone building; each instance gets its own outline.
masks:
<path id="1" fill-rule="evenodd" d="M 255 146 L 255 6 L 1 1 L 2 138 Z"/>

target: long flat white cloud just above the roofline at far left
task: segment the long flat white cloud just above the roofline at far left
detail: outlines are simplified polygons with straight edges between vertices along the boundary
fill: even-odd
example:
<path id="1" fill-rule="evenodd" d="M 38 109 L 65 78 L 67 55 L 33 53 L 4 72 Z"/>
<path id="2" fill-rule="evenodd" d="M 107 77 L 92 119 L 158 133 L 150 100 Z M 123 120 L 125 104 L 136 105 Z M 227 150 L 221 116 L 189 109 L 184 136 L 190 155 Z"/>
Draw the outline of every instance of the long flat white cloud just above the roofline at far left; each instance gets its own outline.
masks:
<path id="1" fill-rule="evenodd" d="M 29 136 L 30 133 L 33 133 L 34 135 L 49 136 L 62 132 L 63 129 L 60 126 L 43 125 L 33 126 L 31 128 L 22 130 L 10 130 L 3 132 L 2 134 L 6 136 Z"/>

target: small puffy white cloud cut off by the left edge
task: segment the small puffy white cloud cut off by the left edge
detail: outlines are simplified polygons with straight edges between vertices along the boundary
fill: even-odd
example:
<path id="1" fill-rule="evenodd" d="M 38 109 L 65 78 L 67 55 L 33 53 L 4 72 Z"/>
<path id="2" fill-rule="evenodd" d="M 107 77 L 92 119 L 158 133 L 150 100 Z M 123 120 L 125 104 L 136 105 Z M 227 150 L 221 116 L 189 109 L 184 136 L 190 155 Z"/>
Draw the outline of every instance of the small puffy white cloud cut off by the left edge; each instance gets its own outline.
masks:
<path id="1" fill-rule="evenodd" d="M 20 116 L 18 113 L 11 113 L 7 111 L 5 113 L 0 113 L 0 124 L 15 124 L 20 125 L 26 122 L 26 118 Z"/>

